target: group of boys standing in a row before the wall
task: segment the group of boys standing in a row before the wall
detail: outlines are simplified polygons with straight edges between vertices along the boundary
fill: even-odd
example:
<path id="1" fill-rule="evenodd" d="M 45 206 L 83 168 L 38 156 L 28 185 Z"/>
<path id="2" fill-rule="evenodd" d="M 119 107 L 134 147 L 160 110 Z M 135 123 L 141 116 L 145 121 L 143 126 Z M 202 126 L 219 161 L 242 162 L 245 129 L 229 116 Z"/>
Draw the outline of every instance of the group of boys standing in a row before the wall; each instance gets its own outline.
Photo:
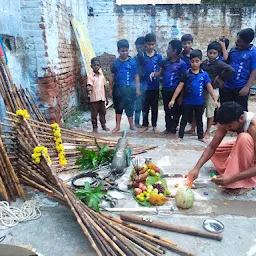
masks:
<path id="1" fill-rule="evenodd" d="M 100 72 L 99 58 L 91 60 L 92 73 L 88 75 L 91 121 L 93 132 L 98 131 L 97 116 L 103 130 L 106 126 L 108 96 L 113 97 L 116 127 L 120 130 L 122 113 L 128 118 L 130 129 L 144 132 L 151 125 L 155 133 L 158 119 L 160 84 L 165 111 L 165 134 L 183 139 L 186 124 L 191 123 L 187 133 L 195 134 L 206 142 L 210 128 L 216 121 L 216 108 L 228 101 L 239 103 L 248 110 L 250 86 L 255 80 L 256 48 L 251 44 L 253 29 L 246 28 L 237 34 L 236 45 L 228 53 L 229 40 L 221 37 L 209 43 L 207 58 L 202 61 L 202 51 L 193 49 L 193 36 L 185 34 L 173 39 L 167 48 L 167 57 L 156 51 L 156 36 L 152 33 L 135 41 L 137 55 L 129 56 L 129 42 L 117 42 L 119 57 L 111 66 L 109 90 L 106 79 Z M 220 101 L 220 103 L 219 103 Z M 206 113 L 207 127 L 203 130 L 202 116 Z M 142 118 L 141 118 L 142 117 Z M 142 119 L 142 120 L 141 120 Z"/>

